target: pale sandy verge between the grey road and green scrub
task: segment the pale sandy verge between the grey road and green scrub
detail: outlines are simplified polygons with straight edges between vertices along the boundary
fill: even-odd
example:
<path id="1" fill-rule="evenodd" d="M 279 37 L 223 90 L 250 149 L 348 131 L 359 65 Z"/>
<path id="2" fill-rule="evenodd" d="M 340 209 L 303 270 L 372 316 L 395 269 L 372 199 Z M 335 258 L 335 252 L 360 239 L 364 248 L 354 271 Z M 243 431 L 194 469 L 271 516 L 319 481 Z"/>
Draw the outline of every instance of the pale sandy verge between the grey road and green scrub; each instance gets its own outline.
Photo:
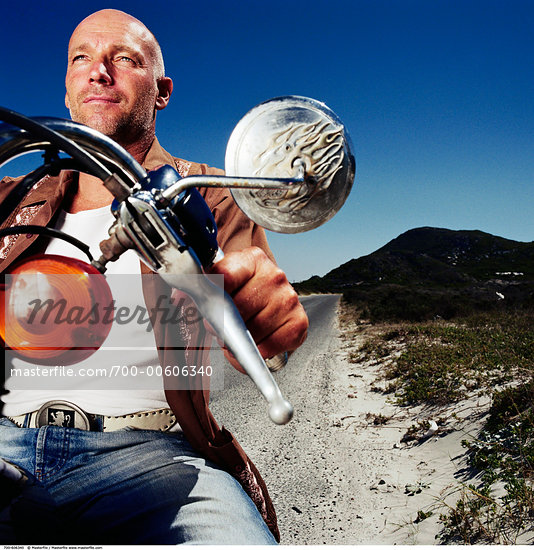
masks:
<path id="1" fill-rule="evenodd" d="M 332 418 L 336 427 L 333 437 L 344 455 L 340 461 L 343 490 L 355 496 L 354 508 L 361 524 L 352 529 L 352 541 L 344 542 L 437 544 L 437 505 L 456 500 L 452 488 L 465 467 L 461 441 L 479 428 L 486 403 L 474 401 L 464 403 L 463 410 L 439 412 L 393 405 L 385 394 L 372 389 L 383 362 L 348 360 L 347 347 L 354 349 L 367 337 L 363 332 L 356 337 L 359 342 L 352 339 L 350 346 L 341 344 L 339 368 L 332 383 L 339 395 Z M 451 416 L 453 412 L 458 416 Z M 424 420 L 437 421 L 438 416 L 445 422 L 432 437 L 402 442 L 408 428 Z M 460 421 L 462 416 L 469 420 Z M 377 417 L 390 420 L 377 425 Z M 425 430 L 418 432 L 419 436 L 424 434 Z M 433 516 L 415 522 L 419 510 L 432 510 Z"/>

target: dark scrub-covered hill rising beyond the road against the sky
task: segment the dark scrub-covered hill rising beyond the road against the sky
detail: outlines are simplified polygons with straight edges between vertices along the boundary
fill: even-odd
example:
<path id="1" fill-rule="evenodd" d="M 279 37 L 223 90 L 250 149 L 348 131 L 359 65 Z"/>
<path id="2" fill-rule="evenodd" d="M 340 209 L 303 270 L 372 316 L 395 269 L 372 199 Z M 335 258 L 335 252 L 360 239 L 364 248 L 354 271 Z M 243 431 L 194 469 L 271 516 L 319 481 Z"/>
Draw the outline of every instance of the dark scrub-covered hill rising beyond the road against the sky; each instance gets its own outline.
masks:
<path id="1" fill-rule="evenodd" d="M 451 318 L 531 307 L 534 243 L 482 231 L 421 227 L 295 288 L 341 292 L 372 320 Z"/>

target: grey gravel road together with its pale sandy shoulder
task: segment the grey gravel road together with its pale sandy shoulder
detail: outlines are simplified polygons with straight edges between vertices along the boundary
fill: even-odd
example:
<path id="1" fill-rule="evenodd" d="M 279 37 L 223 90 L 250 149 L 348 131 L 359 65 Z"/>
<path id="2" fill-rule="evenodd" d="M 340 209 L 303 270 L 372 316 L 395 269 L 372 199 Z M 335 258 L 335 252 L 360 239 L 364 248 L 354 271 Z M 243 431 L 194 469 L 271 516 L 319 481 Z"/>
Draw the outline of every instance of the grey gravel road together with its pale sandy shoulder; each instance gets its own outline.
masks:
<path id="1" fill-rule="evenodd" d="M 309 298 L 305 305 L 313 321 L 308 340 L 276 374 L 295 418 L 273 425 L 250 380 L 233 370 L 213 402 L 216 417 L 236 434 L 267 482 L 282 543 L 436 544 L 438 513 L 412 521 L 455 481 L 463 467 L 461 440 L 466 427 L 479 425 L 480 404 L 457 411 L 469 421 L 453 422 L 446 413 L 441 433 L 401 443 L 412 424 L 437 413 L 395 407 L 372 390 L 383 364 L 349 361 L 336 297 Z M 357 331 L 350 349 L 367 337 Z M 375 425 L 377 415 L 393 418 Z M 444 435 L 453 423 L 455 430 Z"/>

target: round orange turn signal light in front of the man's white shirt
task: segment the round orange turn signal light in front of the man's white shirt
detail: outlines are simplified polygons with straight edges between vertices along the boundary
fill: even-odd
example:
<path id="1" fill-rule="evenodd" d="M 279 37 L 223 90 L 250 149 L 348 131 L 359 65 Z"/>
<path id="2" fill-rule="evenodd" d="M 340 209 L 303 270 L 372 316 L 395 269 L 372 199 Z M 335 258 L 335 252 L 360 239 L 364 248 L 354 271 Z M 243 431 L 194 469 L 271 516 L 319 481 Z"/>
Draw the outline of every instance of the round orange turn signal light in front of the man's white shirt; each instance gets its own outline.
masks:
<path id="1" fill-rule="evenodd" d="M 5 276 L 0 296 L 4 348 L 28 362 L 73 365 L 99 349 L 111 330 L 109 285 L 81 260 L 47 254 L 26 258 Z"/>

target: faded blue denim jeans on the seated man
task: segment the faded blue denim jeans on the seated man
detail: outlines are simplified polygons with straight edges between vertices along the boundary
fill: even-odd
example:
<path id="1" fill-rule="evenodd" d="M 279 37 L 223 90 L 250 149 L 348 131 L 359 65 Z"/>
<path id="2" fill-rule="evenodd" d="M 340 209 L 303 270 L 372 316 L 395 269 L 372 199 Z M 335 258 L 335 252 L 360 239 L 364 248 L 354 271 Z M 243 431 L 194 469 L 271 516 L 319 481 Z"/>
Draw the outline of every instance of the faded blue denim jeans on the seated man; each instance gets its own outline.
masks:
<path id="1" fill-rule="evenodd" d="M 64 544 L 275 544 L 240 484 L 181 433 L 18 428 L 0 418 L 0 457 L 51 497 Z"/>

